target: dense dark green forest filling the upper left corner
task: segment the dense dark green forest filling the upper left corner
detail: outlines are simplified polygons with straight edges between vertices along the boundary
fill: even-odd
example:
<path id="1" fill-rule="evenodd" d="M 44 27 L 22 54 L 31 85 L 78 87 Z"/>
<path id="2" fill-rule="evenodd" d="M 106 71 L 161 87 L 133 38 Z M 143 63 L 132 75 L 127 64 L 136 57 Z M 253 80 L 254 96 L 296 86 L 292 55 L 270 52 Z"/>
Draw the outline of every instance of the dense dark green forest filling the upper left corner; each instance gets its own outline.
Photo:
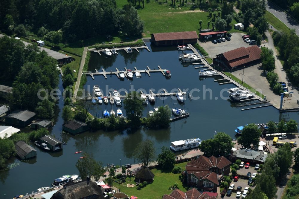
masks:
<path id="1" fill-rule="evenodd" d="M 115 0 L 11 0 L 0 7 L 1 30 L 20 36 L 33 31 L 56 44 L 61 39 L 71 42 L 119 31 L 141 35 L 143 31 L 137 10 L 131 5 L 117 8 Z"/>

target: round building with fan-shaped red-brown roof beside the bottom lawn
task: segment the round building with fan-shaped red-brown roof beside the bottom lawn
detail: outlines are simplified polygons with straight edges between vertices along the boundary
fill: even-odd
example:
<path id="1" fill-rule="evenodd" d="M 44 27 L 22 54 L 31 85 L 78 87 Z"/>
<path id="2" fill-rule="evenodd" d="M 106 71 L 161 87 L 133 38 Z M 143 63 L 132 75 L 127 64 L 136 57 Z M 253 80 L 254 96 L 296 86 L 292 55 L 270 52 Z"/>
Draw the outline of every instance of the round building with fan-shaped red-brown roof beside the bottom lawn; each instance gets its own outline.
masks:
<path id="1" fill-rule="evenodd" d="M 231 161 L 224 156 L 199 156 L 186 165 L 187 183 L 201 191 L 217 192 L 224 175 L 230 173 Z"/>

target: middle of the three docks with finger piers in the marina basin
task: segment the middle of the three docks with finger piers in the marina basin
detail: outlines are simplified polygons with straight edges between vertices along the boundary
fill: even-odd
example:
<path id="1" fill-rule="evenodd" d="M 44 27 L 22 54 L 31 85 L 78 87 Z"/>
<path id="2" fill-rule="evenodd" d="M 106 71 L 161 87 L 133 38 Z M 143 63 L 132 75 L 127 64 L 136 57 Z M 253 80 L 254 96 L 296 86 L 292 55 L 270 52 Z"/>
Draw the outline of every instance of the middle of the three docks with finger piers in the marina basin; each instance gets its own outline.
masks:
<path id="1" fill-rule="evenodd" d="M 119 73 L 120 71 L 118 70 L 118 68 L 115 68 L 116 71 L 105 71 L 103 68 L 102 68 L 102 71 L 103 72 L 99 72 L 97 71 L 97 69 L 94 69 L 96 72 L 91 72 L 91 71 L 83 71 L 83 74 L 86 74 L 86 75 L 90 75 L 92 79 L 94 79 L 94 75 L 103 75 L 105 77 L 105 79 L 107 79 L 107 75 L 116 75 L 118 78 L 119 77 Z M 155 72 L 161 72 L 163 74 L 163 76 L 165 76 L 166 74 L 164 73 L 164 71 L 167 71 L 167 69 L 162 69 L 160 66 L 158 66 L 158 69 L 154 68 L 154 69 L 150 69 L 148 66 L 147 66 L 147 69 L 145 70 L 138 70 L 136 67 L 134 67 L 134 70 L 132 70 L 133 73 L 136 73 L 138 72 L 139 74 L 141 73 L 146 73 L 148 74 L 148 76 L 150 76 L 149 73 L 155 73 Z M 129 78 L 127 76 L 127 72 L 128 72 L 128 69 L 125 67 L 125 70 L 123 71 L 123 73 L 125 74 L 126 78 Z"/>

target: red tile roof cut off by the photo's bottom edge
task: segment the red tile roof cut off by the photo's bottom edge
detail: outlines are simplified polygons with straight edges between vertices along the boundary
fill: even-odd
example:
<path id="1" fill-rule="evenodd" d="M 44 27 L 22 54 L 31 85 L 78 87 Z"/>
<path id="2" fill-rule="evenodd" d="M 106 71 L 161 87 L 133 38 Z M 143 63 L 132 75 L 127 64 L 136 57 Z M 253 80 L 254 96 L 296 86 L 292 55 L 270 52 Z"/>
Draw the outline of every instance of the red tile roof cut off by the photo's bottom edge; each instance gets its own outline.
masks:
<path id="1" fill-rule="evenodd" d="M 186 193 L 179 189 L 173 190 L 170 195 L 164 195 L 163 199 L 216 199 L 217 196 L 210 196 L 208 193 L 200 193 L 197 189 L 189 189 Z"/>

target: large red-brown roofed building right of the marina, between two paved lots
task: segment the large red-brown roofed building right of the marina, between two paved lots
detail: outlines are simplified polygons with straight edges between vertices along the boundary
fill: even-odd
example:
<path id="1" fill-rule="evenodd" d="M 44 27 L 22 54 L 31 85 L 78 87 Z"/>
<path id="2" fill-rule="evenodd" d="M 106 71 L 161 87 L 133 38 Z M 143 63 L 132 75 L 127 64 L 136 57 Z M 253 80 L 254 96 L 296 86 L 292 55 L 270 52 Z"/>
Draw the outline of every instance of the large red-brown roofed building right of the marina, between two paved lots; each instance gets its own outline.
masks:
<path id="1" fill-rule="evenodd" d="M 261 49 L 257 46 L 241 47 L 216 55 L 213 64 L 233 70 L 261 62 Z"/>

